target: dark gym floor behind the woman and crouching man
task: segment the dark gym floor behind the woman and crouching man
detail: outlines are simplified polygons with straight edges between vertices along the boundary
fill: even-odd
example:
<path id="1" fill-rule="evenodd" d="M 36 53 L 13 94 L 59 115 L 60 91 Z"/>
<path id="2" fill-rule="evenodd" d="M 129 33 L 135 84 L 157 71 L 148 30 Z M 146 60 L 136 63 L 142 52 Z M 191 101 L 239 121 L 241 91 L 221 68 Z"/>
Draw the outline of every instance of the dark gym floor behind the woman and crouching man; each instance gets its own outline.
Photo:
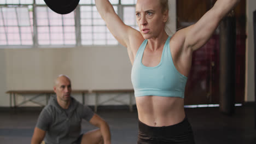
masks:
<path id="1" fill-rule="evenodd" d="M 235 107 L 232 116 L 219 112 L 219 107 L 186 108 L 185 112 L 197 144 L 256 143 L 253 104 Z M 39 113 L 40 109 L 0 109 L 0 143 L 30 143 Z M 99 107 L 98 115 L 109 123 L 113 144 L 136 143 L 136 109 L 129 112 L 128 109 Z M 95 127 L 84 121 L 82 129 L 88 131 Z"/>

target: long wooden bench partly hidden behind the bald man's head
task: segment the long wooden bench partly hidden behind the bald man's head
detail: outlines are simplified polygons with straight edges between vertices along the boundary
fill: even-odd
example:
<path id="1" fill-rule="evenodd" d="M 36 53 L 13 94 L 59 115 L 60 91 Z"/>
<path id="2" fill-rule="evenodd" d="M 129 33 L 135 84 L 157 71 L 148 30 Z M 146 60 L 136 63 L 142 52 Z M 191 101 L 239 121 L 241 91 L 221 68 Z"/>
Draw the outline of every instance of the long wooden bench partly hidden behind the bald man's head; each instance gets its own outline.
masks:
<path id="1" fill-rule="evenodd" d="M 47 105 L 50 95 L 55 94 L 53 90 L 39 90 L 39 91 L 37 91 L 37 90 L 33 90 L 33 91 L 22 90 L 22 91 L 7 91 L 6 93 L 8 93 L 9 97 L 10 97 L 10 107 L 18 107 L 18 106 L 26 104 L 28 101 L 31 101 L 32 103 L 35 103 L 35 104 L 38 104 L 41 106 L 45 106 L 45 104 L 34 101 L 34 99 L 37 99 L 38 97 L 44 95 L 46 97 L 46 105 Z M 84 104 L 85 94 L 88 93 L 88 90 L 72 90 L 72 93 L 82 94 L 82 99 L 83 99 L 83 104 Z M 19 104 L 16 104 L 16 95 L 24 95 L 24 94 L 30 94 L 30 95 L 35 94 L 35 95 L 28 100 L 24 100 L 24 101 L 21 101 Z"/>

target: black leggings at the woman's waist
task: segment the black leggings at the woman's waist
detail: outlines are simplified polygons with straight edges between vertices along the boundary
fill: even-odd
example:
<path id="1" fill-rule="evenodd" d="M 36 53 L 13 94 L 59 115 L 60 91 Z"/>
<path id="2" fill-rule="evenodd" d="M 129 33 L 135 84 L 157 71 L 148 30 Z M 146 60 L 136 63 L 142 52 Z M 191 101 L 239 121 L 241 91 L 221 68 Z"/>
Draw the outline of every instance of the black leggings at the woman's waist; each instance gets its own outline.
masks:
<path id="1" fill-rule="evenodd" d="M 164 126 L 150 127 L 147 124 L 138 122 L 138 144 L 194 144 L 193 130 L 187 117 L 180 123 Z"/>

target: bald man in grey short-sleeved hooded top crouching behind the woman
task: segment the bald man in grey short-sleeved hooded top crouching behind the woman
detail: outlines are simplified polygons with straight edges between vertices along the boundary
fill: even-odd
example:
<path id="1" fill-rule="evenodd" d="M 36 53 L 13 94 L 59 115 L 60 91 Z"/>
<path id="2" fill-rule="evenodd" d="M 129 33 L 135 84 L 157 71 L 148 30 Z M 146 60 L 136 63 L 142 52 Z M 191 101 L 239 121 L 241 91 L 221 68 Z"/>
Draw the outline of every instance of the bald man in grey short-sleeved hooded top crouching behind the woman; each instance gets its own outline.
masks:
<path id="1" fill-rule="evenodd" d="M 85 106 L 71 97 L 71 80 L 60 75 L 55 80 L 56 97 L 50 99 L 39 115 L 31 144 L 92 144 L 110 143 L 108 124 Z M 81 133 L 82 119 L 99 129 Z"/>

